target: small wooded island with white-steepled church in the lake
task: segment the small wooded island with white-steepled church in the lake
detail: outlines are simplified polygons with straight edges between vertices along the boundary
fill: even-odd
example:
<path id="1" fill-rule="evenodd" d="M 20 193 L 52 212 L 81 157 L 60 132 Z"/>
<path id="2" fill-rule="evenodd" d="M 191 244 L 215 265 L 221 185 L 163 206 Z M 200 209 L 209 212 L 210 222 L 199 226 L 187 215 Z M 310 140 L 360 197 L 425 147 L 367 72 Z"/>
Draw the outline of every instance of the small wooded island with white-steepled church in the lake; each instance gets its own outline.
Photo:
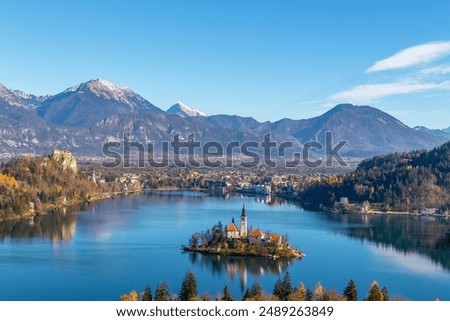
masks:
<path id="1" fill-rule="evenodd" d="M 269 257 L 272 259 L 301 258 L 304 254 L 288 243 L 288 237 L 281 234 L 266 232 L 259 228 L 251 230 L 248 227 L 245 205 L 239 228 L 234 218 L 230 225 L 223 226 L 221 222 L 203 232 L 192 234 L 189 245 L 182 247 L 183 251 L 203 254 L 219 254 L 231 256 Z"/>

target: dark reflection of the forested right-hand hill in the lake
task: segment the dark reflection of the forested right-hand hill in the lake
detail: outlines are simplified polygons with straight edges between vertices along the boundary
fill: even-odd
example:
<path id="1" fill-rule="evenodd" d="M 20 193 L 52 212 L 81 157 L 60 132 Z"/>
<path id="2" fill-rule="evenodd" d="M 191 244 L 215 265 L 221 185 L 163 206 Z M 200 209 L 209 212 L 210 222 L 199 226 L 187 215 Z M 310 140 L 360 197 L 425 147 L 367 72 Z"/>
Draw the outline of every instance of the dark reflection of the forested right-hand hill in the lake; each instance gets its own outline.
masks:
<path id="1" fill-rule="evenodd" d="M 426 255 L 433 262 L 450 270 L 450 223 L 447 218 L 427 216 L 322 214 L 345 223 L 338 229 L 351 238 L 368 240 L 377 245 L 393 247 L 404 253 Z"/>

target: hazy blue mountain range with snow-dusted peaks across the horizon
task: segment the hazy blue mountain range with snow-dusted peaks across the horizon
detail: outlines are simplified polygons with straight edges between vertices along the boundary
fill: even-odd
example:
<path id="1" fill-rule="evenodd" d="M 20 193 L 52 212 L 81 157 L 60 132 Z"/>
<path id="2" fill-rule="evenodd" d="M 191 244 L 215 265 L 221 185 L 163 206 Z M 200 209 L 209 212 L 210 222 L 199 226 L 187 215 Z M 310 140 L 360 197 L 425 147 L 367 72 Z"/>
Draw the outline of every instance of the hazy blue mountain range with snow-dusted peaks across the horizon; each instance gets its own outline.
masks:
<path id="1" fill-rule="evenodd" d="M 450 129 L 436 134 L 410 128 L 393 116 L 370 106 L 341 104 L 310 119 L 259 122 L 251 117 L 213 115 L 178 102 L 164 111 L 132 89 L 95 79 L 53 96 L 34 96 L 0 85 L 0 157 L 68 149 L 77 156 L 102 156 L 102 145 L 121 141 L 124 133 L 147 143 L 172 141 L 179 133 L 197 140 L 261 142 L 267 133 L 278 143 L 346 140 L 342 154 L 368 157 L 377 154 L 429 149 L 449 138 Z"/>

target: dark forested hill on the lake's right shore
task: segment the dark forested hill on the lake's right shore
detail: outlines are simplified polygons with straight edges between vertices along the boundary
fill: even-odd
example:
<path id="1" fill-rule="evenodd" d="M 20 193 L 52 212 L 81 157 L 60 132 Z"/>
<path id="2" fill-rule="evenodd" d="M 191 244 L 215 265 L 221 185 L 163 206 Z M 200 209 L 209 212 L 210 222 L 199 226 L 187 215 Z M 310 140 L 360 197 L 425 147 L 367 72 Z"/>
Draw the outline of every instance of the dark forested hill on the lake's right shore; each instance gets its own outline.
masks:
<path id="1" fill-rule="evenodd" d="M 298 200 L 331 208 L 340 197 L 382 204 L 386 210 L 450 209 L 450 142 L 431 151 L 413 151 L 365 160 L 346 175 L 304 185 Z"/>

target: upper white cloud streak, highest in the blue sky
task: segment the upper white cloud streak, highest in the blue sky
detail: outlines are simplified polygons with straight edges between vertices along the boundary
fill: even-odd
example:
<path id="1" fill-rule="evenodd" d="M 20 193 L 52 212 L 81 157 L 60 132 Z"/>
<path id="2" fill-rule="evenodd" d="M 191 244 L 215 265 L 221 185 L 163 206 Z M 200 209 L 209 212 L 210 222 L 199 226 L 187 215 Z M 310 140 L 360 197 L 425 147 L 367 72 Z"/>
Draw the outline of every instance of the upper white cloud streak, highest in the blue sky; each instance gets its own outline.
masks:
<path id="1" fill-rule="evenodd" d="M 403 49 L 375 62 L 366 72 L 376 72 L 411 67 L 450 55 L 450 41 L 430 42 Z"/>

